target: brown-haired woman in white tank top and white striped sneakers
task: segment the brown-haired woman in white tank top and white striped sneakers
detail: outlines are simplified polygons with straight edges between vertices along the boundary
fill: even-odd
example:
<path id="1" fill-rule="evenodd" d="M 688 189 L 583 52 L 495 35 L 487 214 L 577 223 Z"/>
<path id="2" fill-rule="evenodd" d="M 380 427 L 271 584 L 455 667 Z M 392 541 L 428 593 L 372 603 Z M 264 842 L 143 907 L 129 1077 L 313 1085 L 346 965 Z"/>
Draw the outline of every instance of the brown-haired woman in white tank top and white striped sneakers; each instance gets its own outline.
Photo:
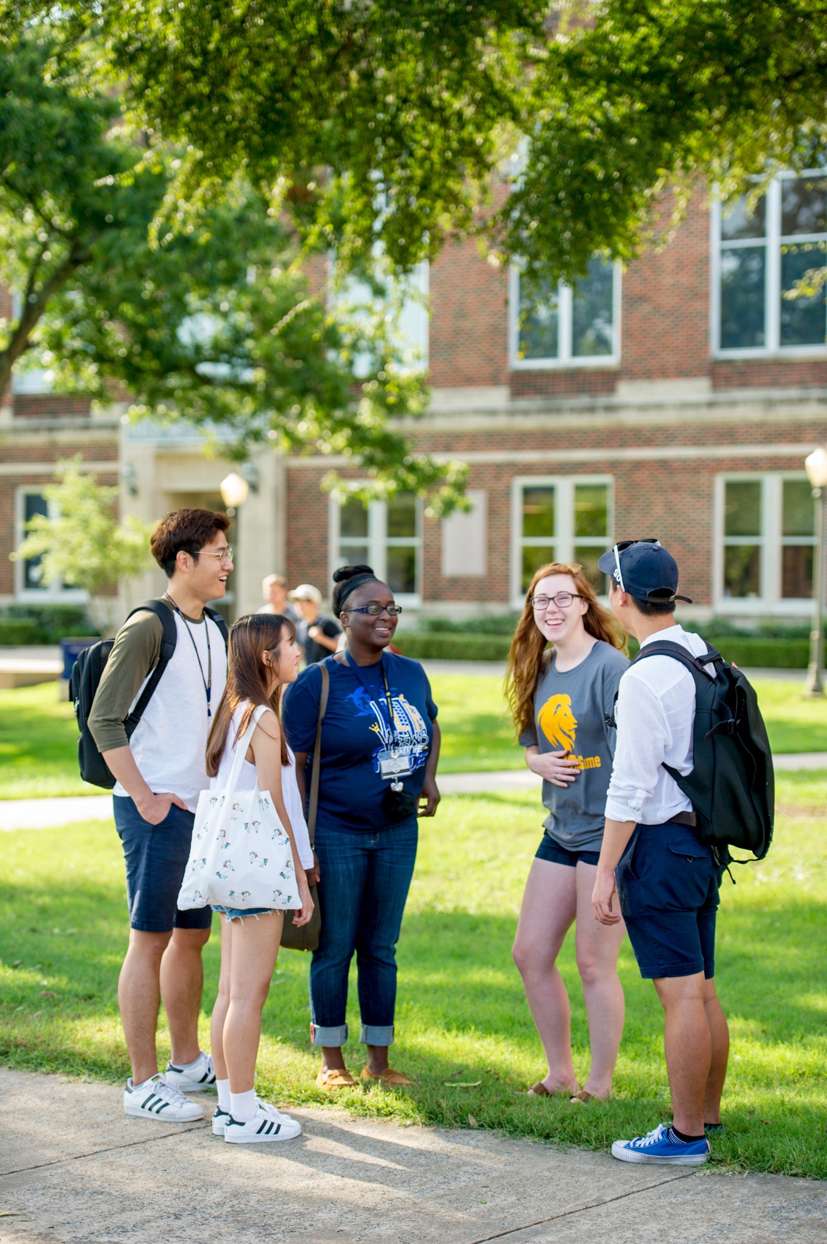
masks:
<path id="1" fill-rule="evenodd" d="M 296 628 L 279 613 L 239 618 L 230 631 L 226 688 L 206 744 L 211 786 L 226 786 L 235 740 L 250 717 L 264 707 L 252 731 L 236 790 L 259 782 L 269 790 L 290 837 L 301 909 L 295 924 L 307 924 L 313 912 L 305 870 L 313 853 L 305 822 L 296 765 L 281 730 L 279 700 L 285 683 L 298 673 Z M 211 1037 L 219 1102 L 213 1131 L 233 1143 L 286 1141 L 301 1126 L 256 1097 L 255 1064 L 261 1036 L 261 1011 L 276 965 L 285 912 L 271 908 L 214 907 L 221 917 L 221 977 L 213 1008 Z"/>

